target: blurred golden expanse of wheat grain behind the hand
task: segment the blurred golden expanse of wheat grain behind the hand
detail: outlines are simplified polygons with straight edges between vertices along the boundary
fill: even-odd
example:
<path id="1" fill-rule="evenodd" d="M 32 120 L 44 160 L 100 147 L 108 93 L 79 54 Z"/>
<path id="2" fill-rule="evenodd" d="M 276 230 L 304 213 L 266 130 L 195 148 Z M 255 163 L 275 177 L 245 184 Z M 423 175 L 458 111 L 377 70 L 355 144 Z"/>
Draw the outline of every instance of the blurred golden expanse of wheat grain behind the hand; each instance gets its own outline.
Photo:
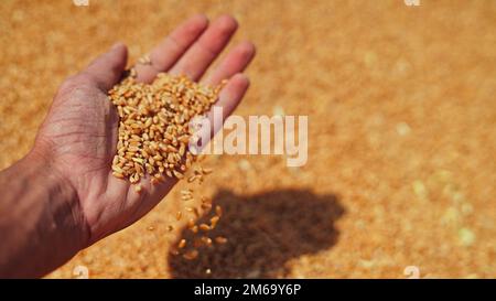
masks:
<path id="1" fill-rule="evenodd" d="M 175 189 L 48 277 L 79 265 L 91 278 L 496 276 L 493 0 L 3 0 L 0 168 L 29 151 L 66 76 L 116 41 L 132 62 L 197 12 L 234 14 L 235 40 L 257 44 L 237 114 L 308 115 L 308 164 L 208 158 L 202 190 L 231 240 L 196 264 L 169 256 Z"/>

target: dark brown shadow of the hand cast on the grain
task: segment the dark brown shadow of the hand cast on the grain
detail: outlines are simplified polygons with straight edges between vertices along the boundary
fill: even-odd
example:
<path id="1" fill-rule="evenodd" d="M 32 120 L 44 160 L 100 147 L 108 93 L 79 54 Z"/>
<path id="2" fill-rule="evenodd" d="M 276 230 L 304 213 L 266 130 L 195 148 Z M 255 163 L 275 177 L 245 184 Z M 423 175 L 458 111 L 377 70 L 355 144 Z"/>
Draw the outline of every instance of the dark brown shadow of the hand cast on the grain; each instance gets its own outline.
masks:
<path id="1" fill-rule="evenodd" d="M 170 255 L 173 278 L 283 277 L 291 258 L 336 244 L 334 223 L 345 213 L 335 195 L 315 195 L 306 190 L 250 196 L 219 191 L 214 200 L 224 214 L 208 235 L 224 236 L 228 243 L 203 247 L 195 260 Z M 201 219 L 208 223 L 207 217 Z M 196 236 L 185 228 L 181 237 L 192 241 Z"/>

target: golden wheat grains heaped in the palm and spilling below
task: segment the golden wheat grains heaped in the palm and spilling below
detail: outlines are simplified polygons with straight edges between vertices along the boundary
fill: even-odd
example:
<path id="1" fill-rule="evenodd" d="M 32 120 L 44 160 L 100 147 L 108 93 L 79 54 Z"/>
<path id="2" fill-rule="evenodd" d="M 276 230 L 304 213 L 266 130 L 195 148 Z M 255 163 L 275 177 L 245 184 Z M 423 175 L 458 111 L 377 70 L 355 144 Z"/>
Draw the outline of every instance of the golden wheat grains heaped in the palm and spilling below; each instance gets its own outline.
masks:
<path id="1" fill-rule="evenodd" d="M 183 179 L 194 163 L 197 155 L 188 148 L 188 141 L 195 129 L 191 128 L 193 118 L 206 114 L 217 100 L 223 85 L 205 86 L 190 80 L 185 76 L 172 76 L 161 73 L 152 84 L 138 83 L 136 73 L 131 71 L 118 85 L 109 90 L 109 99 L 117 107 L 119 115 L 119 130 L 117 154 L 112 161 L 112 173 L 116 178 L 128 179 L 137 192 L 141 192 L 140 179 L 150 176 L 153 185 L 165 178 Z M 195 166 L 187 182 L 203 182 L 212 171 Z M 183 201 L 193 198 L 192 190 L 181 192 Z M 212 202 L 202 200 L 202 212 L 209 213 Z M 200 217 L 198 208 L 185 207 Z M 180 221 L 183 213 L 177 212 Z M 215 228 L 222 215 L 222 208 L 216 206 L 209 224 L 195 225 L 191 218 L 187 223 L 193 233 L 203 233 Z M 170 225 L 169 229 L 173 227 Z M 200 241 L 200 243 L 198 243 Z M 226 243 L 224 237 L 209 238 L 203 235 L 192 241 L 185 259 L 195 259 L 201 245 L 211 246 L 213 241 Z M 181 239 L 173 252 L 180 254 L 187 241 Z"/>

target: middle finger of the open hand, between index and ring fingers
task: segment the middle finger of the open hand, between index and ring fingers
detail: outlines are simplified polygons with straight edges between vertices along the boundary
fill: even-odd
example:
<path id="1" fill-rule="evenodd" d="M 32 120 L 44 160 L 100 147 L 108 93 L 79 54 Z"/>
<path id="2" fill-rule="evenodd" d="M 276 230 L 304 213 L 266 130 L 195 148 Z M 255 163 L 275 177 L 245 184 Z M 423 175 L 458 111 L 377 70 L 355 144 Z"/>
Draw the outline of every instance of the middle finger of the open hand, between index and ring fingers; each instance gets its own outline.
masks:
<path id="1" fill-rule="evenodd" d="M 219 17 L 172 67 L 171 73 L 198 79 L 227 45 L 237 28 L 238 23 L 233 17 Z"/>

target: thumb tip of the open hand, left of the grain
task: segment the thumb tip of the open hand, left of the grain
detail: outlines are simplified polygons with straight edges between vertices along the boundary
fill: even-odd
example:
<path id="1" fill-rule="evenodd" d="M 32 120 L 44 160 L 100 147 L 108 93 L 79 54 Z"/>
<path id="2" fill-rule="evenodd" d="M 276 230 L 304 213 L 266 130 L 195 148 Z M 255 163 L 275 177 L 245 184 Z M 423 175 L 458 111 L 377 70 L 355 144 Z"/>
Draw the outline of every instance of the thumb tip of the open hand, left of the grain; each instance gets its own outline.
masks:
<path id="1" fill-rule="evenodd" d="M 87 74 L 98 86 L 107 93 L 119 82 L 128 60 L 128 49 L 122 43 L 115 44 L 107 53 L 93 61 L 83 74 Z"/>

